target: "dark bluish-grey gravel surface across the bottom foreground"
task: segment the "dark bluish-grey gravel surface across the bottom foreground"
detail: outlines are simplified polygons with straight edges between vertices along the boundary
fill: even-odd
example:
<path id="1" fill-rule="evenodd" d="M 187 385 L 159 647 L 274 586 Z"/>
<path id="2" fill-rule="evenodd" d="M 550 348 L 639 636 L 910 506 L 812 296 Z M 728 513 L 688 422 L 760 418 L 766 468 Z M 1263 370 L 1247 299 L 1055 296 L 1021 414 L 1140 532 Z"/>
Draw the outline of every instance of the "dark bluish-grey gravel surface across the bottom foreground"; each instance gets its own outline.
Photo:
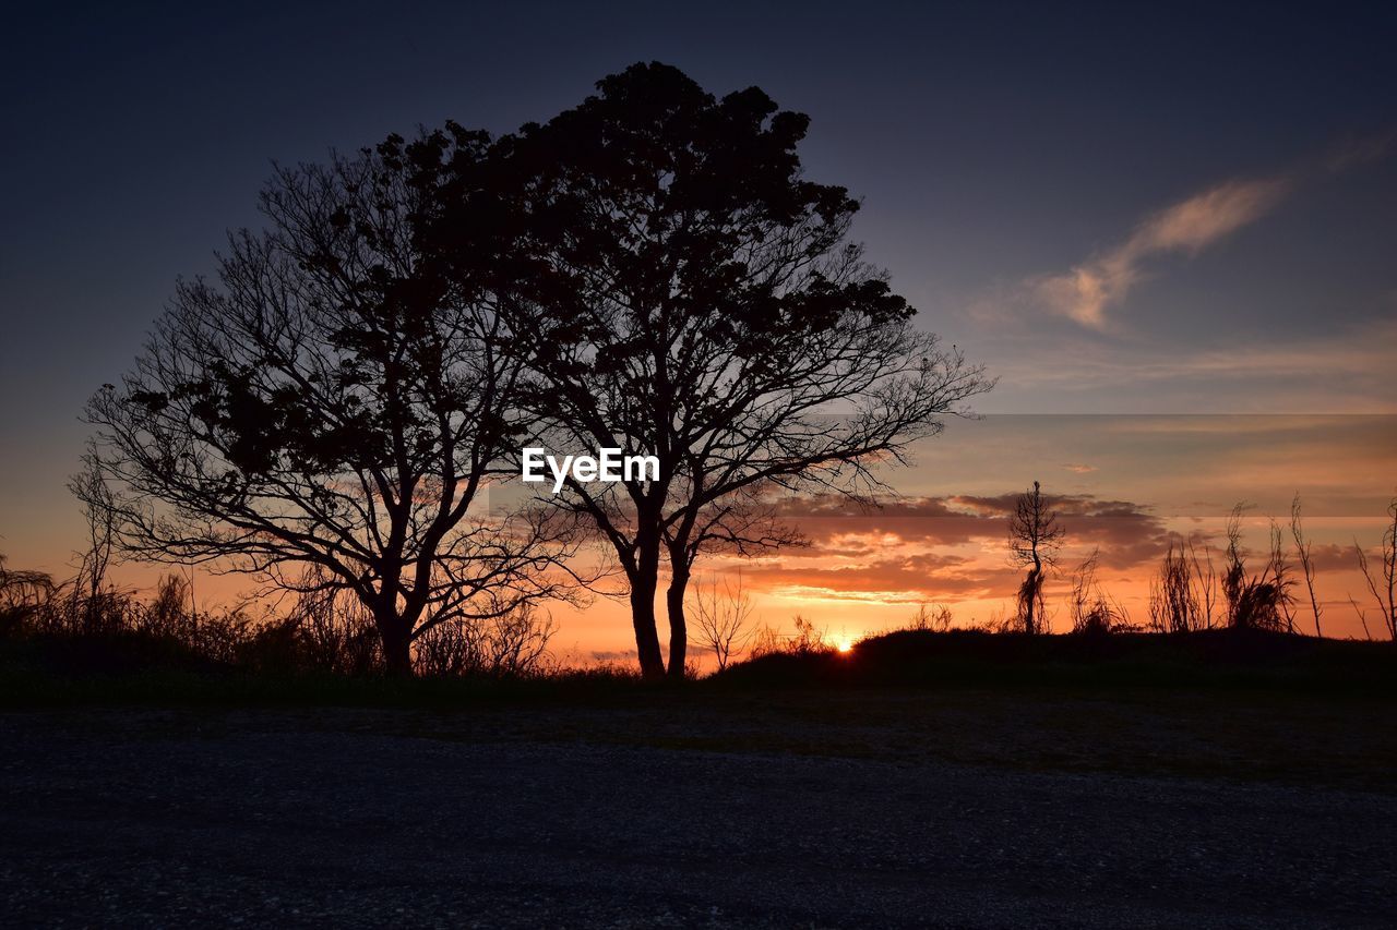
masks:
<path id="1" fill-rule="evenodd" d="M 1390 926 L 1397 797 L 569 739 L 0 715 L 0 924 Z"/>

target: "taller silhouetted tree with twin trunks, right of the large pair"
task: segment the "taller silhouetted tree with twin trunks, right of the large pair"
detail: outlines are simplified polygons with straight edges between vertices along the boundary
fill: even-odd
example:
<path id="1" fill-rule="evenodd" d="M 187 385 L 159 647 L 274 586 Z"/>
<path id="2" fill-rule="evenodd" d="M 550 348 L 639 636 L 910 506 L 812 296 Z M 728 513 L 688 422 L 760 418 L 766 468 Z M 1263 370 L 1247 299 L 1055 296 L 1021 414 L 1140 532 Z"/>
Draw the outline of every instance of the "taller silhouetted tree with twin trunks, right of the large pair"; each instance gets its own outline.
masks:
<path id="1" fill-rule="evenodd" d="M 866 490 L 875 462 L 900 461 L 989 383 L 915 331 L 863 261 L 848 239 L 858 201 L 800 176 L 806 116 L 757 88 L 715 99 L 662 64 L 598 88 L 502 138 L 489 165 L 464 163 L 464 219 L 443 223 L 440 247 L 496 254 L 518 275 L 515 345 L 553 448 L 659 458 L 658 482 L 569 482 L 564 505 L 616 552 L 647 677 L 665 672 L 668 560 L 669 673 L 682 676 L 700 552 L 793 542 L 766 494 Z M 481 216 L 497 218 L 486 249 L 472 244 Z"/>

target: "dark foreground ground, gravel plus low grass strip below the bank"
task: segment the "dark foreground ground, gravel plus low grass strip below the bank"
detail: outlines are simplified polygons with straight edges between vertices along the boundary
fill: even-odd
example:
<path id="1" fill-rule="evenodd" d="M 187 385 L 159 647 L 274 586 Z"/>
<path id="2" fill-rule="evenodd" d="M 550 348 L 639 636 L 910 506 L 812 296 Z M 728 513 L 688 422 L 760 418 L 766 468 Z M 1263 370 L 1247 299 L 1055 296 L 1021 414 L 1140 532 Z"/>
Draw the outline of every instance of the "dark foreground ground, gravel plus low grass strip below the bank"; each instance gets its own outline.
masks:
<path id="1" fill-rule="evenodd" d="M 0 714 L 3 926 L 1391 926 L 1393 702 Z"/>

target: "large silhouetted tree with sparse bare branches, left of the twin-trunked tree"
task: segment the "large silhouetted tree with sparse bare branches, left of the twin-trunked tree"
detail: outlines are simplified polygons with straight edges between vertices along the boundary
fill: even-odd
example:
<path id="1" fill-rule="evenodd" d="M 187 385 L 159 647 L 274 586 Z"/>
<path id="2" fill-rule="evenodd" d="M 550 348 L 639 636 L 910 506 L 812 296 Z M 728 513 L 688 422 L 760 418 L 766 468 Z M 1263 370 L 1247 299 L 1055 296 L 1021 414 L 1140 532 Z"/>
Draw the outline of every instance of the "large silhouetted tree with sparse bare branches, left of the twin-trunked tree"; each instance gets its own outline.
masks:
<path id="1" fill-rule="evenodd" d="M 101 480 L 78 490 L 126 553 L 288 588 L 317 566 L 398 673 L 434 624 L 559 593 L 556 517 L 475 512 L 511 471 L 511 335 L 419 243 L 446 162 L 482 147 L 391 137 L 277 170 L 270 228 L 231 235 L 217 279 L 182 281 L 136 369 L 87 408 Z"/>

